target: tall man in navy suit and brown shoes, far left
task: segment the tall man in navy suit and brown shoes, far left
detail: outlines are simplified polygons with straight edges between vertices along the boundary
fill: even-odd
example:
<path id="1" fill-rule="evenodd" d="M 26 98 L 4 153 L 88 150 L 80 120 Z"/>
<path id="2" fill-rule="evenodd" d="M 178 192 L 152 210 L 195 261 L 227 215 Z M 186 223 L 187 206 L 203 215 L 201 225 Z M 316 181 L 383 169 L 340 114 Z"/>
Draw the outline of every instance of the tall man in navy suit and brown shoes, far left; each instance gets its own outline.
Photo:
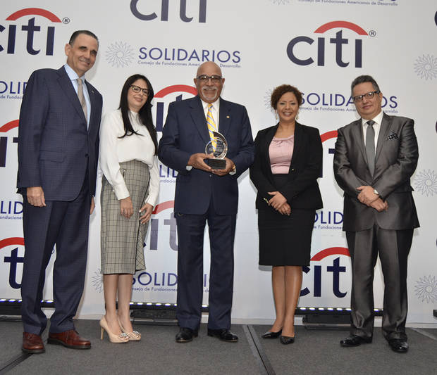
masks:
<path id="1" fill-rule="evenodd" d="M 25 256 L 21 284 L 23 351 L 44 352 L 41 310 L 45 270 L 56 244 L 55 311 L 48 343 L 88 349 L 74 329 L 87 262 L 88 225 L 94 210 L 102 98 L 85 80 L 99 42 L 74 32 L 67 63 L 41 69 L 27 82 L 18 131 L 18 191 L 23 194 Z"/>

